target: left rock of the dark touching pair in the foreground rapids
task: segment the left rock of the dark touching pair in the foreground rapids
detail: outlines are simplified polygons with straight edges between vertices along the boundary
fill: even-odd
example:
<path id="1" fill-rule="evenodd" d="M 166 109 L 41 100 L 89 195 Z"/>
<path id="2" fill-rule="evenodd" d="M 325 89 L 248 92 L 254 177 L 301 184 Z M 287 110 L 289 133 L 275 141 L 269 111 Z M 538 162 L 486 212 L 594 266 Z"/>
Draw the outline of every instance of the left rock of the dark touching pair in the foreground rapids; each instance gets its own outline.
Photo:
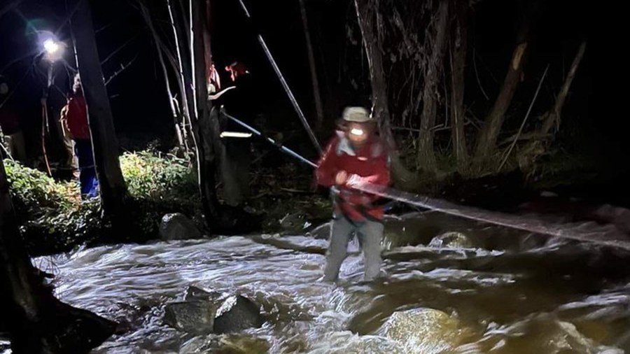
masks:
<path id="1" fill-rule="evenodd" d="M 209 301 L 172 302 L 166 306 L 164 322 L 183 332 L 211 333 L 216 310 L 217 307 Z"/>

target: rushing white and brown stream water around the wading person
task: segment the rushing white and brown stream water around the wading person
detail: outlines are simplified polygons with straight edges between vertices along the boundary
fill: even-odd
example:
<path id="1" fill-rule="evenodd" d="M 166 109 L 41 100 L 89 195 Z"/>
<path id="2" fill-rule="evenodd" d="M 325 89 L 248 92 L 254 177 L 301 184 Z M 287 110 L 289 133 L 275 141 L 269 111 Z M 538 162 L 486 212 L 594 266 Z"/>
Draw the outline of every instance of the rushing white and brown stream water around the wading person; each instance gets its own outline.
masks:
<path id="1" fill-rule="evenodd" d="M 430 242 L 443 232 L 467 239 Z M 94 353 L 630 353 L 625 250 L 420 213 L 388 221 L 383 279 L 363 283 L 354 252 L 331 285 L 318 281 L 326 243 L 232 236 L 83 249 L 52 264 L 60 299 L 127 323 Z M 165 304 L 189 285 L 246 295 L 267 322 L 223 336 L 167 327 Z M 441 312 L 385 329 L 409 309 Z"/>

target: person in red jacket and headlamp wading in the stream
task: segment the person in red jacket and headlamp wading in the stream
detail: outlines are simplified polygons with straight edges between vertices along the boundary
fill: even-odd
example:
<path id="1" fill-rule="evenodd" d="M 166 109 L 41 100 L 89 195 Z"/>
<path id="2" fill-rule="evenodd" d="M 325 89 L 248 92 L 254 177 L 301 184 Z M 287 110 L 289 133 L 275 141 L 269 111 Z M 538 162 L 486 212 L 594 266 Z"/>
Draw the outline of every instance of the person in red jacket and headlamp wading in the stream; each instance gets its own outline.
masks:
<path id="1" fill-rule="evenodd" d="M 365 280 L 370 281 L 380 274 L 383 207 L 374 205 L 378 197 L 352 186 L 388 185 L 389 154 L 365 108 L 346 108 L 343 121 L 342 132 L 328 143 L 315 171 L 317 183 L 332 187 L 335 195 L 323 280 L 337 281 L 348 242 L 356 234 L 363 248 Z"/>

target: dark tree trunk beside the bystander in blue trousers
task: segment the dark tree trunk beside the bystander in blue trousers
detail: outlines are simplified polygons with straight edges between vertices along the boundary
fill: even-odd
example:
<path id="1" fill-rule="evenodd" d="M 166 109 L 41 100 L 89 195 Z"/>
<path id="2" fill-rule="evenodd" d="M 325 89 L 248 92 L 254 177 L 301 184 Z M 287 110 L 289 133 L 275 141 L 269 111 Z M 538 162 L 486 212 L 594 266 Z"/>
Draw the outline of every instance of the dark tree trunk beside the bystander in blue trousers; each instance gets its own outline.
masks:
<path id="1" fill-rule="evenodd" d="M 104 216 L 114 217 L 123 212 L 123 202 L 127 192 L 118 161 L 118 141 L 94 38 L 90 3 L 82 0 L 73 1 L 73 3 L 76 11 L 72 15 L 71 29 L 75 41 L 78 71 L 87 103 L 94 164 L 101 190 L 101 204 Z"/>

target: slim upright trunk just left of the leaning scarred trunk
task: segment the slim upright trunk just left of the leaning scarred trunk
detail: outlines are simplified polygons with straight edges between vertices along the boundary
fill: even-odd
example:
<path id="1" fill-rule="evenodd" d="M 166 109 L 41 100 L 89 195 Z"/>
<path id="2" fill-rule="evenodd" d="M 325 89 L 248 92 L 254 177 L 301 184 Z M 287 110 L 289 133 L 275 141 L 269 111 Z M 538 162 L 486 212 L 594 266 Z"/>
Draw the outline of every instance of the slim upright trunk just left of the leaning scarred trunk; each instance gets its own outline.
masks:
<path id="1" fill-rule="evenodd" d="M 464 88 L 466 50 L 468 49 L 468 0 L 453 0 L 454 36 L 451 41 L 451 111 L 453 153 L 461 171 L 468 164 L 468 147 L 464 131 Z"/>

